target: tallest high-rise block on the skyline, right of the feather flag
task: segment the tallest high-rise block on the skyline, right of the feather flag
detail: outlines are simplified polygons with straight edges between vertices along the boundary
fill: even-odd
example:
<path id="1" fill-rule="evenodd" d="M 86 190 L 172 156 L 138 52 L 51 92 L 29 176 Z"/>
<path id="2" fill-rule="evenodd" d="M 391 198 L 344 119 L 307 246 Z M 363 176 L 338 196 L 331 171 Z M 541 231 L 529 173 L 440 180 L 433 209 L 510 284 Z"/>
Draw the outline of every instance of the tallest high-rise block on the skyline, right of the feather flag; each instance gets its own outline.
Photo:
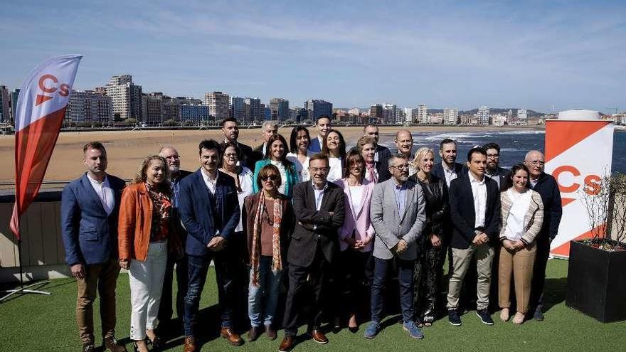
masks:
<path id="1" fill-rule="evenodd" d="M 112 76 L 106 86 L 107 96 L 113 103 L 114 117 L 120 119 L 141 119 L 142 114 L 142 86 L 132 83 L 131 75 Z"/>

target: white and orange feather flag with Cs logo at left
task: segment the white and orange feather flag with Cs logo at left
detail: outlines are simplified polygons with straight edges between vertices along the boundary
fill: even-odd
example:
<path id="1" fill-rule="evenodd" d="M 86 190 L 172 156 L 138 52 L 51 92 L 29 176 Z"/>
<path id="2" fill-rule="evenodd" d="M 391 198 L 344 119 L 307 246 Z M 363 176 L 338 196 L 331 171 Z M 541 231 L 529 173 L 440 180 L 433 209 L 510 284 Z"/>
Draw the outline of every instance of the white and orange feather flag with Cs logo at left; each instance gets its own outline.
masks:
<path id="1" fill-rule="evenodd" d="M 15 207 L 11 230 L 39 192 L 63 124 L 65 107 L 83 55 L 63 55 L 38 65 L 24 80 L 15 114 Z"/>

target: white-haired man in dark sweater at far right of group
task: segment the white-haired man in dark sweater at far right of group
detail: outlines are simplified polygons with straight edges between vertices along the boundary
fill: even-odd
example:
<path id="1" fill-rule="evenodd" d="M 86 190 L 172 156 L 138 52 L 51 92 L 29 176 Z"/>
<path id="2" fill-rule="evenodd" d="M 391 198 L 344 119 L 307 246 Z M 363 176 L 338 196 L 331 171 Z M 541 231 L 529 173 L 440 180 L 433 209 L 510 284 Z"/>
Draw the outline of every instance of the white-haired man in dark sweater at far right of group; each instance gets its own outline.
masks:
<path id="1" fill-rule="evenodd" d="M 543 153 L 531 150 L 524 158 L 524 165 L 530 171 L 529 187 L 539 193 L 543 201 L 543 225 L 537 236 L 537 254 L 533 267 L 531 282 L 531 298 L 529 313 L 533 312 L 535 320 L 543 320 L 543 287 L 546 284 L 546 265 L 550 255 L 550 244 L 558 233 L 563 208 L 561 206 L 561 191 L 558 190 L 556 179 L 543 172 L 545 160 Z"/>

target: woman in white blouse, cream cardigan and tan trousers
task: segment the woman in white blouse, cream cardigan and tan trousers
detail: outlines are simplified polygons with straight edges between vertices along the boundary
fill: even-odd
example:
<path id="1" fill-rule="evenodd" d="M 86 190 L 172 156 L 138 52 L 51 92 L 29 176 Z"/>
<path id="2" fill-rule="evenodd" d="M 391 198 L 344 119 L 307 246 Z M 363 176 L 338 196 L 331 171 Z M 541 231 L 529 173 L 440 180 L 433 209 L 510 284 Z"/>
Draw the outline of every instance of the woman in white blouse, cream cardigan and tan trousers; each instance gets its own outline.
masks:
<path id="1" fill-rule="evenodd" d="M 500 319 L 508 321 L 511 306 L 511 274 L 513 274 L 517 301 L 513 323 L 521 324 L 529 306 L 536 254 L 535 238 L 543 223 L 543 202 L 539 193 L 528 188 L 529 170 L 524 164 L 513 166 L 508 181 L 506 191 L 500 193 L 502 248 L 498 268 L 498 300 L 502 308 Z"/>

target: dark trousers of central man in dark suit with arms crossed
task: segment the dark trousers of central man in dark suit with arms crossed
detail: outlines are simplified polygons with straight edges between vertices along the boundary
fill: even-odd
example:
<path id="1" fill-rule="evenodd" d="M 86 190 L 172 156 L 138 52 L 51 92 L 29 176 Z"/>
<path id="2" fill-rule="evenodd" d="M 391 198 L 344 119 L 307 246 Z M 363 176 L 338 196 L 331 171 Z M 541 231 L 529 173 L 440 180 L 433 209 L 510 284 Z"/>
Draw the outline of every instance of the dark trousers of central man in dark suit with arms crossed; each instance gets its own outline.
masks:
<path id="1" fill-rule="evenodd" d="M 308 267 L 289 264 L 289 291 L 287 291 L 285 316 L 282 319 L 285 336 L 297 335 L 299 314 L 305 304 L 309 304 L 312 308 L 313 316 L 307 319 L 309 330 L 318 329 L 322 325 L 324 294 L 331 275 L 329 269 L 329 262 L 319 248 L 312 264 Z M 309 290 L 313 294 L 312 302 L 306 302 L 303 299 L 304 294 L 307 294 Z"/>

